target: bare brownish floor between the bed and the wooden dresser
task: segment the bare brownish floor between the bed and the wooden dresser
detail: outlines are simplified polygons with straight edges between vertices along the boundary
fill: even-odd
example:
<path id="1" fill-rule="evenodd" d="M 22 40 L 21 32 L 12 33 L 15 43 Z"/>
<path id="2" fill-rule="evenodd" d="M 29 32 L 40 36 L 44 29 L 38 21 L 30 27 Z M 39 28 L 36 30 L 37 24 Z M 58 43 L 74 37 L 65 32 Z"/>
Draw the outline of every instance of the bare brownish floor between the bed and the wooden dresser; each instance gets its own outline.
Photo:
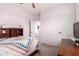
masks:
<path id="1" fill-rule="evenodd" d="M 41 44 L 39 51 L 36 51 L 32 56 L 57 56 L 58 48 L 46 44 Z"/>

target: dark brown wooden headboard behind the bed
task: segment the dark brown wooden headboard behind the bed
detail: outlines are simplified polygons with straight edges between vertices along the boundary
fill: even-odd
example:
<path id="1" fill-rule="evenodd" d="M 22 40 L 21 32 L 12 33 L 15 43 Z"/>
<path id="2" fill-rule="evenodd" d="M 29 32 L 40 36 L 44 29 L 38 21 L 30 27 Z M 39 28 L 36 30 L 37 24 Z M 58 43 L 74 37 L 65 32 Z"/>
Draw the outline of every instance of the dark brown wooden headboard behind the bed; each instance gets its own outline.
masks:
<path id="1" fill-rule="evenodd" d="M 0 28 L 0 38 L 23 36 L 22 28 Z"/>

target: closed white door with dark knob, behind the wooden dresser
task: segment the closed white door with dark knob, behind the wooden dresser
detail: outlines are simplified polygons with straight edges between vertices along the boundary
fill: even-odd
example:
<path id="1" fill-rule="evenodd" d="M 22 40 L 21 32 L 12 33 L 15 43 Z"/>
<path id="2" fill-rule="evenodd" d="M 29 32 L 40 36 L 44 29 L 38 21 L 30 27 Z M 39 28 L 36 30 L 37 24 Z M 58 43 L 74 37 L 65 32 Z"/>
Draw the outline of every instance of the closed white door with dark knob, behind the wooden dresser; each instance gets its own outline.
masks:
<path id="1" fill-rule="evenodd" d="M 70 39 L 73 36 L 73 13 L 65 14 L 58 19 L 58 41 L 59 44 L 62 39 Z"/>

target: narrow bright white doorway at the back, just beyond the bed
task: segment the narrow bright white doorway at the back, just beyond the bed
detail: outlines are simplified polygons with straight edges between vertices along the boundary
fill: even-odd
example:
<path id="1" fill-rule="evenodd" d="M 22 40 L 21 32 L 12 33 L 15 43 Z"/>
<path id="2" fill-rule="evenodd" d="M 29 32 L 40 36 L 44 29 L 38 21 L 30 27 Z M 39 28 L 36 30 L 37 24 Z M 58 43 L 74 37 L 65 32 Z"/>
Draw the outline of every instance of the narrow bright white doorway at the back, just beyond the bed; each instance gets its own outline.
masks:
<path id="1" fill-rule="evenodd" d="M 31 21 L 31 36 L 39 41 L 40 21 Z"/>

